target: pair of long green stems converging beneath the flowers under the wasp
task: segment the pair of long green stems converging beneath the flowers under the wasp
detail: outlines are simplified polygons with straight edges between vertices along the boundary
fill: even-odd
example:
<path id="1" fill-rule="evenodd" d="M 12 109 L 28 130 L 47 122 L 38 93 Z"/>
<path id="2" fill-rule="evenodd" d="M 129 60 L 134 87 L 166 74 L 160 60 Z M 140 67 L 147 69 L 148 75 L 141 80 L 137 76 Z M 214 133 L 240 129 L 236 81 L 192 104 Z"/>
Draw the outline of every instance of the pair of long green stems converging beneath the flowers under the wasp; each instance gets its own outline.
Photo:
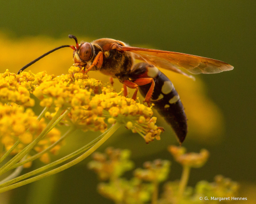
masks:
<path id="1" fill-rule="evenodd" d="M 51 164 L 43 166 L 42 168 L 36 169 L 36 170 L 34 170 L 34 171 L 30 172 L 30 173 L 24 174 L 24 175 L 22 175 L 22 176 L 20 176 L 18 178 L 14 178 L 14 180 L 10 180 L 10 181 L 6 182 L 5 184 L 0 185 L 0 188 L 1 188 L 0 189 L 0 193 L 2 193 L 4 191 L 7 191 L 7 190 L 11 190 L 11 189 L 17 188 L 17 187 L 22 186 L 22 185 L 29 184 L 29 183 L 37 181 L 37 180 L 40 180 L 41 178 L 50 176 L 50 175 L 58 173 L 58 172 L 61 172 L 61 171 L 65 170 L 65 169 L 67 169 L 67 168 L 69 168 L 69 167 L 79 163 L 80 161 L 82 161 L 86 157 L 88 157 L 92 152 L 94 152 L 98 147 L 100 147 L 100 145 L 103 144 L 120 126 L 121 126 L 121 124 L 115 123 L 114 126 L 112 126 L 108 131 L 106 131 L 105 136 L 102 136 L 102 135 L 104 135 L 104 134 L 102 134 L 97 139 L 93 140 L 90 144 L 86 145 L 84 148 L 81 148 L 78 151 L 73 152 L 72 154 L 70 154 L 70 155 L 68 155 L 68 156 L 66 156 L 66 157 L 64 157 L 64 158 L 62 158 L 60 160 L 57 160 L 57 161 L 55 161 L 55 162 L 53 162 Z M 100 140 L 100 141 L 98 141 L 98 140 Z M 42 171 L 44 171 L 44 170 L 46 170 L 48 168 L 51 168 L 52 166 L 55 166 L 57 164 L 62 163 L 63 161 L 66 161 L 66 160 L 70 159 L 73 156 L 78 155 L 79 153 L 84 151 L 85 148 L 90 148 L 90 149 L 87 152 L 85 152 L 84 154 L 82 154 L 81 156 L 77 157 L 77 159 L 75 159 L 75 160 L 73 160 L 73 161 L 71 161 L 71 162 L 69 162 L 67 164 L 62 165 L 59 168 L 56 168 L 56 169 L 50 170 L 49 172 L 40 174 L 39 176 L 35 176 L 35 177 L 29 178 L 29 179 L 27 179 L 25 181 L 18 182 L 20 180 L 23 180 L 24 178 L 27 178 L 27 177 L 33 176 L 35 174 L 38 174 L 38 173 L 40 173 L 40 172 L 42 172 Z M 18 183 L 14 184 L 15 182 L 18 182 Z M 13 185 L 10 185 L 10 184 L 13 184 Z M 4 186 L 7 186 L 7 187 L 4 187 Z M 4 188 L 2 188 L 2 187 L 4 187 Z"/>

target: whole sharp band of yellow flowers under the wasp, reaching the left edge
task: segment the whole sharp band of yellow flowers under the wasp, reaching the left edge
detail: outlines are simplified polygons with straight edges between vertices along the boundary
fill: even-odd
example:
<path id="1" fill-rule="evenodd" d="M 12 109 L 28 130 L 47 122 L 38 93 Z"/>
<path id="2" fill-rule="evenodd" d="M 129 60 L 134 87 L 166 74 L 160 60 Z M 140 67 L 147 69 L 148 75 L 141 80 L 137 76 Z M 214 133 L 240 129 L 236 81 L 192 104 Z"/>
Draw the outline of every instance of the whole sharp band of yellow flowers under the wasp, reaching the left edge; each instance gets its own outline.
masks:
<path id="1" fill-rule="evenodd" d="M 108 118 L 109 124 L 126 124 L 127 129 L 138 132 L 146 143 L 160 139 L 163 129 L 155 125 L 151 108 L 115 93 L 109 86 L 103 87 L 79 67 L 71 66 L 68 72 L 56 77 L 46 72 L 14 74 L 6 70 L 0 76 L 0 98 L 5 103 L 34 106 L 32 93 L 40 99 L 40 106 L 53 104 L 56 110 L 72 107 L 63 124 L 75 125 L 83 131 L 104 132 L 108 128 L 105 118 Z M 46 118 L 51 119 L 54 114 L 47 113 Z"/>

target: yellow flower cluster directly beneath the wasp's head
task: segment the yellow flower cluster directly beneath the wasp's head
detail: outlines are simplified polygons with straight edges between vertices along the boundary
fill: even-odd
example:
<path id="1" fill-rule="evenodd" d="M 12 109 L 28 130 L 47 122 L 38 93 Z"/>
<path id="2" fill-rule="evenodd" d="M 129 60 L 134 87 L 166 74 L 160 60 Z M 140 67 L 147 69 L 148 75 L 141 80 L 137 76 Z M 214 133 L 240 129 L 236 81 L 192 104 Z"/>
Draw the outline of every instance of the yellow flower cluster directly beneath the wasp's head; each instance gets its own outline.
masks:
<path id="1" fill-rule="evenodd" d="M 75 66 L 69 69 L 69 74 L 57 77 L 36 74 L 35 81 L 38 81 L 39 85 L 36 86 L 33 94 L 41 100 L 40 106 L 47 107 L 52 103 L 57 107 L 85 106 L 90 101 L 92 90 L 98 93 L 102 86 L 100 81 L 88 78 Z"/>

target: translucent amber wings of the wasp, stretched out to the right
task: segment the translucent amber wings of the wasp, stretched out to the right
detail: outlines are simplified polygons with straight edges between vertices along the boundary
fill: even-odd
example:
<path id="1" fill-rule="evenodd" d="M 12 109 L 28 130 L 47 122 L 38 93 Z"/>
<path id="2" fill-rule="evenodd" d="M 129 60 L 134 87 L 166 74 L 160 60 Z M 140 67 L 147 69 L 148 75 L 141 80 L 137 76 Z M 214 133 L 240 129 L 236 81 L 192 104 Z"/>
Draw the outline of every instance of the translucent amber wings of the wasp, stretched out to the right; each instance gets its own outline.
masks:
<path id="1" fill-rule="evenodd" d="M 172 70 L 173 72 L 177 72 L 191 78 L 193 77 L 182 72 L 179 68 L 184 68 L 192 74 L 213 74 L 233 69 L 233 66 L 224 63 L 223 61 L 179 52 L 127 46 L 123 46 L 122 50 L 133 52 L 135 54 L 135 59 L 146 61 L 149 64 Z"/>

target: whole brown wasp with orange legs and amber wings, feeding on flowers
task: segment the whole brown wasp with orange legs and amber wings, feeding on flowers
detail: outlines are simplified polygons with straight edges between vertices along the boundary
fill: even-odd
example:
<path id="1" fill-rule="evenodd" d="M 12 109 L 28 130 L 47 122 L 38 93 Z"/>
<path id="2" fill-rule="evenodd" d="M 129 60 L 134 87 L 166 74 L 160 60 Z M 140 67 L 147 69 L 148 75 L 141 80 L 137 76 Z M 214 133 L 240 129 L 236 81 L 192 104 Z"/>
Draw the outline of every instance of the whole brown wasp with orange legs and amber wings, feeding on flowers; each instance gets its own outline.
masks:
<path id="1" fill-rule="evenodd" d="M 118 78 L 123 86 L 135 89 L 132 97 L 134 100 L 139 90 L 148 106 L 153 102 L 155 109 L 171 125 L 180 144 L 188 132 L 187 116 L 174 85 L 158 68 L 168 69 L 190 78 L 193 77 L 182 72 L 180 68 L 192 74 L 212 74 L 233 69 L 233 66 L 223 61 L 179 52 L 130 47 L 122 41 L 109 38 L 80 44 L 75 36 L 69 35 L 69 38 L 76 41 L 75 46 L 62 45 L 52 49 L 23 66 L 18 73 L 49 53 L 70 47 L 73 49 L 74 65 L 83 68 L 85 73 L 98 70 L 112 78 Z M 136 64 L 135 60 L 142 62 Z"/>

